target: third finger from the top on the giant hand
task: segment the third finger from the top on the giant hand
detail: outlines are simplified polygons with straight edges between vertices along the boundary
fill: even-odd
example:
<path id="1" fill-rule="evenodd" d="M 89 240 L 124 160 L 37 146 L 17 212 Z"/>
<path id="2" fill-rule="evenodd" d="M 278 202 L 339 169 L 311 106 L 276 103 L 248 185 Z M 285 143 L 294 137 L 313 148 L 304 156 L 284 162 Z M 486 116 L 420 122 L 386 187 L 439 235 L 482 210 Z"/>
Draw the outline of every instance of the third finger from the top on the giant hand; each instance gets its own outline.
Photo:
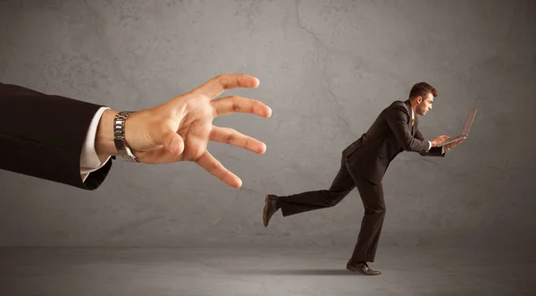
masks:
<path id="1" fill-rule="evenodd" d="M 209 140 L 230 144 L 239 148 L 246 148 L 258 154 L 266 152 L 266 145 L 263 142 L 230 128 L 214 126 L 210 132 Z"/>

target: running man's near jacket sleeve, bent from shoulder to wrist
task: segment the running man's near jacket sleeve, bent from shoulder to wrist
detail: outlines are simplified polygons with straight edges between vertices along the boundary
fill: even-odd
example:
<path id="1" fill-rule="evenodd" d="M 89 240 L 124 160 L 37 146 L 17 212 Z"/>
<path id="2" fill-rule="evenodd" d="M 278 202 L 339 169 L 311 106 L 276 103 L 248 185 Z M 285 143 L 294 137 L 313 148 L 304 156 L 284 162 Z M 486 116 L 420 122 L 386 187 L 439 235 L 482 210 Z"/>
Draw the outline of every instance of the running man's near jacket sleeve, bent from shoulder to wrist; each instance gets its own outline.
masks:
<path id="1" fill-rule="evenodd" d="M 419 140 L 411 135 L 409 116 L 405 106 L 393 106 L 387 110 L 386 120 L 400 147 L 406 151 L 427 152 L 428 141 Z"/>

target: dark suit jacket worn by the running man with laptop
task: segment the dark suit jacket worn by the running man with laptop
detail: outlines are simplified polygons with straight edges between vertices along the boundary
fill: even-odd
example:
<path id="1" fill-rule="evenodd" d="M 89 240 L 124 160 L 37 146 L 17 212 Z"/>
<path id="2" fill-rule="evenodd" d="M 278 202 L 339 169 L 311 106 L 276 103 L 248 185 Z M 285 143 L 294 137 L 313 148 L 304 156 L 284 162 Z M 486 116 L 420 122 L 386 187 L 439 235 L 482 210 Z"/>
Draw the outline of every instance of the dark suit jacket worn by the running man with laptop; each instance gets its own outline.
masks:
<path id="1" fill-rule="evenodd" d="M 411 104 L 409 100 L 395 101 L 381 111 L 373 125 L 361 138 L 342 152 L 347 157 L 348 170 L 364 179 L 379 184 L 389 163 L 404 150 L 422 156 L 445 156 L 441 148 L 431 148 L 418 129 L 418 117 L 411 126 Z"/>

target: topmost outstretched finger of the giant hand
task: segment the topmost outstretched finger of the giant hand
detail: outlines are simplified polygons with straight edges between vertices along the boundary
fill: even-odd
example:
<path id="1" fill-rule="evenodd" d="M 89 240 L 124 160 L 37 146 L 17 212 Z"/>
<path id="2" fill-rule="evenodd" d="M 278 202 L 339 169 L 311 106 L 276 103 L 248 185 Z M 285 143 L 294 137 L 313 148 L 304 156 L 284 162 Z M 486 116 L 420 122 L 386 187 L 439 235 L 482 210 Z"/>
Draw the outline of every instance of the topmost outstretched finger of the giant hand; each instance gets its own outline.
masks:
<path id="1" fill-rule="evenodd" d="M 247 88 L 255 89 L 259 86 L 258 78 L 246 74 L 222 74 L 205 82 L 194 92 L 213 99 L 222 94 L 226 89 Z"/>

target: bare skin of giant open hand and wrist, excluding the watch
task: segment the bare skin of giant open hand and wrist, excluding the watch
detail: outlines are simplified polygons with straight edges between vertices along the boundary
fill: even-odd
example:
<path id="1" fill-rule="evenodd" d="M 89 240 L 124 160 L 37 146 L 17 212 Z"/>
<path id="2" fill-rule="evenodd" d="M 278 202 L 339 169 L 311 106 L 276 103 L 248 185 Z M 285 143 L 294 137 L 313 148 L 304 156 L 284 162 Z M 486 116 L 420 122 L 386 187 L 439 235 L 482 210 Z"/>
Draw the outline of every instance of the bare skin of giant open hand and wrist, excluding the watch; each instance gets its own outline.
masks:
<path id="1" fill-rule="evenodd" d="M 125 138 L 138 161 L 166 164 L 193 161 L 231 187 L 241 180 L 227 170 L 206 149 L 207 142 L 228 143 L 263 154 L 263 142 L 239 131 L 213 125 L 214 117 L 234 112 L 270 117 L 272 109 L 246 97 L 218 97 L 226 89 L 256 88 L 259 80 L 244 74 L 219 75 L 197 89 L 175 97 L 160 106 L 131 114 L 125 123 Z M 117 112 L 107 110 L 97 130 L 96 152 L 99 156 L 117 155 L 113 144 L 113 118 Z"/>

